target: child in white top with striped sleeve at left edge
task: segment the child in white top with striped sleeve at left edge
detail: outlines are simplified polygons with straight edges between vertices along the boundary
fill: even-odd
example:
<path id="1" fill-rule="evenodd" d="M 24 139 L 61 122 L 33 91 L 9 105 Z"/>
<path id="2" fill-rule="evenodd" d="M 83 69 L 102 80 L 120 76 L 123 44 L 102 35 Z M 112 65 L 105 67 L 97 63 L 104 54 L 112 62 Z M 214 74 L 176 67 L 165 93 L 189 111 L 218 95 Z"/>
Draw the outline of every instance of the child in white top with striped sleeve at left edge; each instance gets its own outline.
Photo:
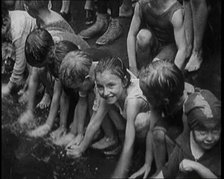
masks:
<path id="1" fill-rule="evenodd" d="M 13 89 L 21 87 L 25 82 L 24 72 L 26 58 L 25 41 L 28 34 L 36 27 L 35 19 L 24 11 L 8 11 L 2 7 L 2 40 L 12 43 L 15 50 L 15 63 L 7 85 L 2 86 L 2 96 L 9 95 Z"/>

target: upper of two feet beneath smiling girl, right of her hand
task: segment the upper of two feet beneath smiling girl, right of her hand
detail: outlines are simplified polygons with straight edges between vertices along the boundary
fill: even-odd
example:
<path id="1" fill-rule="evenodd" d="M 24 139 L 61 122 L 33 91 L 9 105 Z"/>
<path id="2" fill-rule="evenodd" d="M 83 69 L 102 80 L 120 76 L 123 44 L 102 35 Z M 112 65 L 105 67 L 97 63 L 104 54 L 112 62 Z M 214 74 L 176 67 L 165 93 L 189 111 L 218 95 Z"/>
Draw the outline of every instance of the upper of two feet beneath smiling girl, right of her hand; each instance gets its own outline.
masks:
<path id="1" fill-rule="evenodd" d="M 92 148 L 98 149 L 98 150 L 104 150 L 116 145 L 117 143 L 118 141 L 115 140 L 114 138 L 109 138 L 104 136 L 99 141 L 92 144 Z"/>

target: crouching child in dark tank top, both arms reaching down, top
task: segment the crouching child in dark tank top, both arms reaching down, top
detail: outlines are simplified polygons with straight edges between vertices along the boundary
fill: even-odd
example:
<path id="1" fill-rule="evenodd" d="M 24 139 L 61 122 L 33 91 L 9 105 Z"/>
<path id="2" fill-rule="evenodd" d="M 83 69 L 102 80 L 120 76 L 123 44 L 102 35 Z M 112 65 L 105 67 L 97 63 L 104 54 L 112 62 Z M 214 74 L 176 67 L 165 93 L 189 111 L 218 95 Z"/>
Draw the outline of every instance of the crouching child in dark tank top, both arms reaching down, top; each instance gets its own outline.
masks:
<path id="1" fill-rule="evenodd" d="M 129 66 L 135 75 L 151 60 L 169 59 L 183 69 L 186 58 L 183 19 L 183 8 L 177 0 L 136 3 L 127 38 Z"/>

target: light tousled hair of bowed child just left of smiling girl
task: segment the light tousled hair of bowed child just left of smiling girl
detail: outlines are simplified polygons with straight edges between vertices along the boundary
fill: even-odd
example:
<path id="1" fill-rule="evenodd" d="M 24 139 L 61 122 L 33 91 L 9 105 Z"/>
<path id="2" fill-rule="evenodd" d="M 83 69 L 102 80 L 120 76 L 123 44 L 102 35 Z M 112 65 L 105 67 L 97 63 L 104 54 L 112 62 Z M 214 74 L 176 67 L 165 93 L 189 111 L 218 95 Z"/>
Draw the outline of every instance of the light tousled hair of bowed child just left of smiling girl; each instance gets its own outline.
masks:
<path id="1" fill-rule="evenodd" d="M 80 50 L 69 52 L 61 63 L 59 78 L 63 85 L 74 88 L 89 75 L 91 66 L 92 58 L 86 52 Z"/>

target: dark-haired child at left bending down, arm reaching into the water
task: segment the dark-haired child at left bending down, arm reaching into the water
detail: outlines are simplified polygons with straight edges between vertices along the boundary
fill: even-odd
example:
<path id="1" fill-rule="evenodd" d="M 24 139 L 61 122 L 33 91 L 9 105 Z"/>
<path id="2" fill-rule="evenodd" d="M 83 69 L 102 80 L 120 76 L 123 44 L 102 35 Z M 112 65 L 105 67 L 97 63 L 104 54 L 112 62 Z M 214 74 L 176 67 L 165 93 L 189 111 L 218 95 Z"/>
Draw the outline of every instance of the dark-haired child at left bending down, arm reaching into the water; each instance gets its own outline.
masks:
<path id="1" fill-rule="evenodd" d="M 73 36 L 72 34 L 68 34 L 66 32 L 60 33 L 59 36 L 55 37 L 59 37 L 61 38 L 61 40 L 68 39 L 69 41 L 77 43 L 75 36 Z M 33 119 L 34 98 L 36 94 L 36 88 L 38 85 L 38 78 L 41 80 L 47 79 L 46 59 L 48 52 L 50 51 L 53 45 L 54 41 L 51 34 L 47 30 L 42 28 L 35 29 L 27 37 L 26 55 L 29 59 L 28 63 L 31 66 L 33 66 L 33 68 L 29 80 L 28 108 L 19 118 L 19 121 L 22 124 Z M 49 83 L 45 84 L 49 85 Z"/>

